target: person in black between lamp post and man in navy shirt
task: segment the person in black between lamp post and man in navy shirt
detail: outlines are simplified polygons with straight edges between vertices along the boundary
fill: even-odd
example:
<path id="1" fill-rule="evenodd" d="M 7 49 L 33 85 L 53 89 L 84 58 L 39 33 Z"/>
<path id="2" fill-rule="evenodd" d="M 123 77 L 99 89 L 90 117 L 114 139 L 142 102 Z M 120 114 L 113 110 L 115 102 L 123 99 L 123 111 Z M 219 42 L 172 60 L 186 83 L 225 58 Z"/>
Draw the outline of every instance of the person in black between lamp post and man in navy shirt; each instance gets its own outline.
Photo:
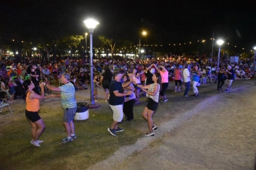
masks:
<path id="1" fill-rule="evenodd" d="M 109 92 L 109 84 L 113 78 L 113 74 L 112 72 L 110 71 L 109 67 L 106 67 L 104 69 L 105 72 L 102 73 L 101 75 L 101 84 L 102 84 L 102 87 L 104 89 L 104 96 L 105 96 L 105 101 L 107 102 L 107 99 L 108 99 L 108 92 Z"/>

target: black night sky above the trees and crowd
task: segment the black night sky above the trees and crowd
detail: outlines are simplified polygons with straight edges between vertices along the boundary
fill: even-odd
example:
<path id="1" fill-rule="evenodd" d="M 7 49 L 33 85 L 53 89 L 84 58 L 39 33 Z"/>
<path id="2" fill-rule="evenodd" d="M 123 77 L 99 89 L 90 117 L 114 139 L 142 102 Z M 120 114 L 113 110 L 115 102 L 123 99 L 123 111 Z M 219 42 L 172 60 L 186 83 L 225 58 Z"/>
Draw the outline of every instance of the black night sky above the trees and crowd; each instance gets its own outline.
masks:
<path id="1" fill-rule="evenodd" d="M 83 35 L 83 21 L 99 25 L 94 37 L 119 35 L 145 44 L 183 43 L 222 38 L 240 47 L 256 45 L 256 1 L 66 1 L 4 0 L 0 6 L 0 37 L 39 41 L 51 33 Z"/>

